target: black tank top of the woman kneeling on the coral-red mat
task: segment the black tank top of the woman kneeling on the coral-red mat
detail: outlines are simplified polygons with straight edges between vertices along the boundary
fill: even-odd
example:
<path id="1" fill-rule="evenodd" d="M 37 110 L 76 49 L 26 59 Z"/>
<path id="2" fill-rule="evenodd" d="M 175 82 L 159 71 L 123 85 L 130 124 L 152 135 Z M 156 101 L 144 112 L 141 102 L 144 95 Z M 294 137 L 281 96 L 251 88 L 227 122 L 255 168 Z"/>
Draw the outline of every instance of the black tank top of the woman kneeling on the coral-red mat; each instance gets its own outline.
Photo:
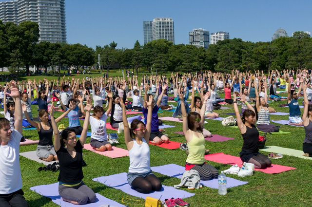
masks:
<path id="1" fill-rule="evenodd" d="M 252 128 L 246 126 L 246 132 L 242 134 L 244 144 L 242 147 L 243 151 L 256 153 L 259 151 L 258 144 L 259 144 L 259 131 L 257 128 L 252 124 Z"/>

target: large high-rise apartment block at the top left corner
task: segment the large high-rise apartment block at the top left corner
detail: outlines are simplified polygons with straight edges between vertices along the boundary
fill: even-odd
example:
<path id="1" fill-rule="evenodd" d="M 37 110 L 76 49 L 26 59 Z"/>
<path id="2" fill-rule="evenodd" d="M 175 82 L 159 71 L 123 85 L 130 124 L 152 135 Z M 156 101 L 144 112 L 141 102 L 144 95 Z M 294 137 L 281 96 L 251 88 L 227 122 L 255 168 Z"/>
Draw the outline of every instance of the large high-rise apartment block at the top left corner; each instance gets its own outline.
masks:
<path id="1" fill-rule="evenodd" d="M 0 19 L 39 25 L 39 41 L 66 42 L 65 0 L 11 0 L 0 2 Z"/>

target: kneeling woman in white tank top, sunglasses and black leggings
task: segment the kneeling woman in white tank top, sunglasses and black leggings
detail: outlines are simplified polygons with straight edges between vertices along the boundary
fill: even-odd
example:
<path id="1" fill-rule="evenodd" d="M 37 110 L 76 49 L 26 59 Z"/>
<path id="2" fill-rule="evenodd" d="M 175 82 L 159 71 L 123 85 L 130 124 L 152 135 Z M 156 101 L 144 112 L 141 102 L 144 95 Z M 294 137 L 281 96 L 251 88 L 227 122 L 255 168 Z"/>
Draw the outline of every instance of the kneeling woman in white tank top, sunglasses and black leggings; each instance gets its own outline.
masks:
<path id="1" fill-rule="evenodd" d="M 148 97 L 149 101 L 146 103 L 148 107 L 146 126 L 142 121 L 135 119 L 131 123 L 130 130 L 126 116 L 126 107 L 123 100 L 120 99 L 125 143 L 130 158 L 127 180 L 129 185 L 140 193 L 149 193 L 152 190 L 159 191 L 162 188 L 160 180 L 153 174 L 150 165 L 149 139 L 151 133 L 153 97 Z"/>

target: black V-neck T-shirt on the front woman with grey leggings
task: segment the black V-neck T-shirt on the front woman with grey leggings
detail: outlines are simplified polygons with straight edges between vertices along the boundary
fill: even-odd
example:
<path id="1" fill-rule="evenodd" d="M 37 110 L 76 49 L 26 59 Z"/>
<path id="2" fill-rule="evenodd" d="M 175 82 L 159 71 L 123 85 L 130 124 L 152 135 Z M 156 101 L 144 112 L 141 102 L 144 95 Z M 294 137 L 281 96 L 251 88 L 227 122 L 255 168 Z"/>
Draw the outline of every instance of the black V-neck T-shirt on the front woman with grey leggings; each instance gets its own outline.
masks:
<path id="1" fill-rule="evenodd" d="M 59 178 L 62 183 L 76 183 L 82 180 L 82 146 L 80 141 L 77 141 L 75 146 L 76 156 L 73 158 L 66 148 L 60 147 L 57 151 L 59 158 Z"/>

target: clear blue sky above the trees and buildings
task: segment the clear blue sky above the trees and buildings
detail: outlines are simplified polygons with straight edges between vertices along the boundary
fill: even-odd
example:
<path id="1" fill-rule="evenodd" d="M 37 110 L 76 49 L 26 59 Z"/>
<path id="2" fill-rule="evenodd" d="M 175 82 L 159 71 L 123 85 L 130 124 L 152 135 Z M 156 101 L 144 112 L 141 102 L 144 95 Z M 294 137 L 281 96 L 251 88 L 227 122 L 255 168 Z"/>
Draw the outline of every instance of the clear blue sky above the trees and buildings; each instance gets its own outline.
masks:
<path id="1" fill-rule="evenodd" d="M 283 28 L 312 32 L 311 0 L 65 0 L 67 42 L 95 48 L 113 40 L 117 48 L 143 43 L 143 21 L 173 18 L 175 43 L 203 28 L 224 31 L 244 41 L 271 41 Z"/>

